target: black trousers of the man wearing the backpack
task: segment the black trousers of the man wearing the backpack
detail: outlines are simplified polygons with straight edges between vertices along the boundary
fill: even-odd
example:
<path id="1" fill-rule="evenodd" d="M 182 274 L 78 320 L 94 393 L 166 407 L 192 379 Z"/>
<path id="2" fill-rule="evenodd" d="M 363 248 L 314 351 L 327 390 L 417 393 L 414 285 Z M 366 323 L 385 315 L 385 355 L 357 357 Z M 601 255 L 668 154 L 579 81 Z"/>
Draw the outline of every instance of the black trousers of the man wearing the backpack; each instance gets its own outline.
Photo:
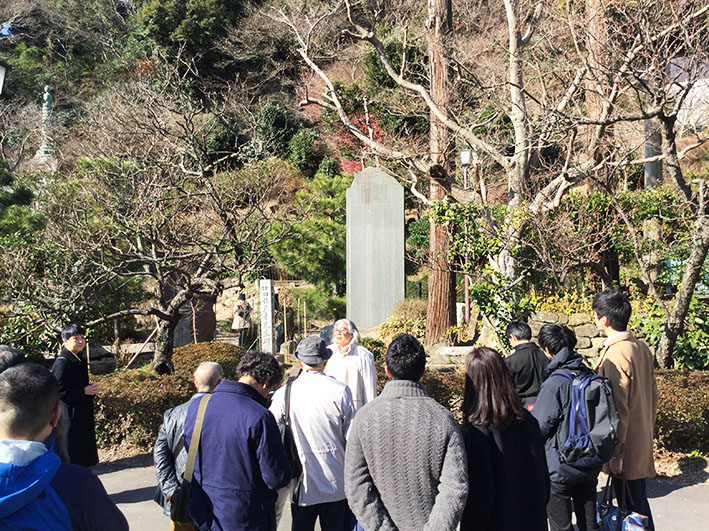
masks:
<path id="1" fill-rule="evenodd" d="M 572 501 L 579 531 L 598 531 L 596 483 L 596 478 L 577 485 L 551 482 L 549 503 L 547 503 L 550 531 L 573 531 L 574 526 L 571 524 Z"/>

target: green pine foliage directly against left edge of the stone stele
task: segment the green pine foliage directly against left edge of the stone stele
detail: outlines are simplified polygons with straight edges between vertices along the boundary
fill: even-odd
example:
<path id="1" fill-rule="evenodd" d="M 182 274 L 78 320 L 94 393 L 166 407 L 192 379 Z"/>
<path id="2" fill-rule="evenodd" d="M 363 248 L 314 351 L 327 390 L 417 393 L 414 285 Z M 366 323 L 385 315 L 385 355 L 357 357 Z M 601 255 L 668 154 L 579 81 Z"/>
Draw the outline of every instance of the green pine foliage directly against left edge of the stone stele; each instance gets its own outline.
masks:
<path id="1" fill-rule="evenodd" d="M 293 237 L 273 245 L 278 263 L 290 274 L 323 291 L 344 292 L 346 192 L 350 176 L 315 175 L 296 194 L 296 204 L 309 216 L 293 226 Z"/>

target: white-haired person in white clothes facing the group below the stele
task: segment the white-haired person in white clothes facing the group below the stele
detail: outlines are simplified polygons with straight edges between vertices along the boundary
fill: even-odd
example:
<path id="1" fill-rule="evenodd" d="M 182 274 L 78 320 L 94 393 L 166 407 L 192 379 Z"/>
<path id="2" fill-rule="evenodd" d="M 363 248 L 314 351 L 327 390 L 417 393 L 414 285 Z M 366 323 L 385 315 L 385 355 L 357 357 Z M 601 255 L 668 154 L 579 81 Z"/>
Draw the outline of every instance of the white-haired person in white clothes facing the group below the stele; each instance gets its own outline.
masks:
<path id="1" fill-rule="evenodd" d="M 325 367 L 325 374 L 350 388 L 355 411 L 377 396 L 377 371 L 374 356 L 359 345 L 359 332 L 349 319 L 335 322 L 335 340 L 328 348 L 332 357 Z"/>

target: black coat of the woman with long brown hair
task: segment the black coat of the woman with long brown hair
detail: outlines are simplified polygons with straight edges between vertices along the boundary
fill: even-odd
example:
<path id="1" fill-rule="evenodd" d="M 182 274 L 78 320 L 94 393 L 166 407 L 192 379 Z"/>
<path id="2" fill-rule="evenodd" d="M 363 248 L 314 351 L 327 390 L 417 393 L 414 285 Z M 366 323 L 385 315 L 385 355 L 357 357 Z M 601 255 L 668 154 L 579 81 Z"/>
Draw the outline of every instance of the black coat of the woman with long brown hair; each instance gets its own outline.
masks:
<path id="1" fill-rule="evenodd" d="M 525 411 L 504 430 L 473 426 L 464 439 L 469 490 L 461 531 L 546 531 L 549 473 L 534 417 Z"/>

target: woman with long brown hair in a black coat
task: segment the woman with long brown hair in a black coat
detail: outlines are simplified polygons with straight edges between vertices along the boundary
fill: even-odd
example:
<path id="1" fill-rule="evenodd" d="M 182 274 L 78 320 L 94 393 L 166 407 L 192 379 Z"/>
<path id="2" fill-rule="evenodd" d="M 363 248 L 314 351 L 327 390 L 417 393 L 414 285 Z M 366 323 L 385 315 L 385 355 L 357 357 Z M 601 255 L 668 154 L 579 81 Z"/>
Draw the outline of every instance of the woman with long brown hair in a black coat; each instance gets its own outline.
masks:
<path id="1" fill-rule="evenodd" d="M 463 421 L 470 488 L 461 531 L 546 531 L 544 441 L 491 348 L 466 357 Z"/>

